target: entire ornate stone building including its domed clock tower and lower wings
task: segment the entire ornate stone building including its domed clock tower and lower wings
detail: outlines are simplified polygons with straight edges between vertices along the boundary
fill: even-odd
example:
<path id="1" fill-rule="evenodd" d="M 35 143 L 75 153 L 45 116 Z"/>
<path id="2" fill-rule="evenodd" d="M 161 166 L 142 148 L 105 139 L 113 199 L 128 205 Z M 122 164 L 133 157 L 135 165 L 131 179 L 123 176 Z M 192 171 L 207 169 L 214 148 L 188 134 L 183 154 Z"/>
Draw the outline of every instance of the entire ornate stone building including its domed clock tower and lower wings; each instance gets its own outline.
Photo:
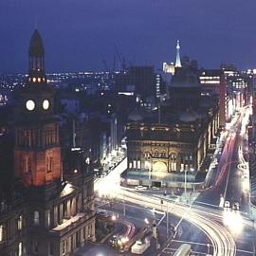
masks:
<path id="1" fill-rule="evenodd" d="M 80 157 L 76 152 L 62 159 L 54 103 L 54 90 L 46 82 L 45 48 L 36 29 L 29 46 L 28 82 L 20 91 L 15 119 L 17 182 L 12 199 L 1 202 L 0 255 L 70 255 L 85 241 L 95 240 L 93 175 L 88 161 L 74 160 Z"/>

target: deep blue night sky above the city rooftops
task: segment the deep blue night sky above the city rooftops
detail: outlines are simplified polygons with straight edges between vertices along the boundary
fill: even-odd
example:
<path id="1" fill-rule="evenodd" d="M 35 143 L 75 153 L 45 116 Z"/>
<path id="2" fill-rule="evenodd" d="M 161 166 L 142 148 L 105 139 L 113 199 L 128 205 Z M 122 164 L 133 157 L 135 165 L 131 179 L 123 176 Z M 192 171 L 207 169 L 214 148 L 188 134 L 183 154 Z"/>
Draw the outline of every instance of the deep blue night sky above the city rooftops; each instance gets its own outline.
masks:
<path id="1" fill-rule="evenodd" d="M 127 63 L 159 68 L 176 39 L 206 68 L 256 67 L 255 0 L 0 0 L 0 73 L 27 71 L 36 16 L 48 72 L 112 69 L 115 44 Z"/>

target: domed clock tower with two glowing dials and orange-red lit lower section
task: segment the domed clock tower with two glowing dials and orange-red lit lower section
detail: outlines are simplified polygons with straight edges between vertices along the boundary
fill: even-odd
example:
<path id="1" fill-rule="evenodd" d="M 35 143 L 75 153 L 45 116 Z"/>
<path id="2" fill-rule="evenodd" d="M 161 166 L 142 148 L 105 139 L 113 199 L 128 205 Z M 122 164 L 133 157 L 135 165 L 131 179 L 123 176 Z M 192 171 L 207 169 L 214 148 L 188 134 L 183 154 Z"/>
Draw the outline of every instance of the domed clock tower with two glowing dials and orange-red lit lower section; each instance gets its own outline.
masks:
<path id="1" fill-rule="evenodd" d="M 45 47 L 37 29 L 28 53 L 28 81 L 16 112 L 15 176 L 25 186 L 39 187 L 61 179 L 63 167 L 54 89 L 46 81 Z"/>

